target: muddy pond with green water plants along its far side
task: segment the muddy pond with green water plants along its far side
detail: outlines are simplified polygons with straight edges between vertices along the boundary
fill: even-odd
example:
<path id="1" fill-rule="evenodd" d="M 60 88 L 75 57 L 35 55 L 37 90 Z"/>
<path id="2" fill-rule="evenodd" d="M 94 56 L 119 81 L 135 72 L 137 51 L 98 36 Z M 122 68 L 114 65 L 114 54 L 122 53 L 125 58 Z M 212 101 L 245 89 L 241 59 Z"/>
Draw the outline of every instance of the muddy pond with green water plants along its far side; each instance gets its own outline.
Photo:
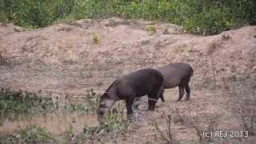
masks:
<path id="1" fill-rule="evenodd" d="M 38 96 L 21 90 L 2 89 L 0 93 L 0 135 L 13 134 L 27 126 L 38 126 L 51 134 L 84 126 L 98 126 L 98 95 L 93 90 L 83 97 L 66 95 Z"/>

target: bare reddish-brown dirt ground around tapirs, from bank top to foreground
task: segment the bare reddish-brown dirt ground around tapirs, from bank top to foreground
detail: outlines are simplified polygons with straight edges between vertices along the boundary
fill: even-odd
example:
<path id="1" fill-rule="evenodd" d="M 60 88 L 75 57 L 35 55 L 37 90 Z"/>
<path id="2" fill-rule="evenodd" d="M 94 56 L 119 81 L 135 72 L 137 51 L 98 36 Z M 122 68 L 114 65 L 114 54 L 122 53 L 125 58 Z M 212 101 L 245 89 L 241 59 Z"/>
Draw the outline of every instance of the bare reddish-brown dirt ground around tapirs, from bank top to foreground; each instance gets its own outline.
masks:
<path id="1" fill-rule="evenodd" d="M 126 133 L 103 140 L 164 143 L 150 123 L 158 122 L 159 128 L 166 130 L 165 118 L 170 114 L 174 138 L 193 143 L 199 137 L 191 122 L 206 129 L 208 119 L 214 118 L 215 129 L 244 129 L 237 111 L 244 100 L 256 99 L 255 37 L 256 26 L 201 36 L 186 34 L 182 26 L 119 18 L 64 22 L 37 30 L 1 23 L 0 86 L 57 97 L 82 97 L 89 89 L 103 92 L 115 78 L 134 70 L 170 62 L 190 63 L 194 68 L 191 101 L 175 102 L 177 88 L 166 90 L 167 102 L 158 102 L 154 112 L 144 110 L 144 103 L 138 112 L 139 121 Z M 254 103 L 246 106 L 256 109 Z M 240 140 L 230 141 L 256 142 L 252 134 Z"/>

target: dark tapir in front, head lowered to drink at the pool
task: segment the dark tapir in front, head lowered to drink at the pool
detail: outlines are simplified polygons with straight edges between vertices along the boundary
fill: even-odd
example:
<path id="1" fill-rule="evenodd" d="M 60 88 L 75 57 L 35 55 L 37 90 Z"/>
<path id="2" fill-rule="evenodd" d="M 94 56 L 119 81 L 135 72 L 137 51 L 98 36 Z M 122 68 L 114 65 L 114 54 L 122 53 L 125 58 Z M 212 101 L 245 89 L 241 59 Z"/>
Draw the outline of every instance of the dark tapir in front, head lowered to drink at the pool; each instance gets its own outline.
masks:
<path id="1" fill-rule="evenodd" d="M 127 116 L 133 114 L 132 105 L 134 98 L 148 96 L 148 110 L 154 110 L 155 102 L 162 97 L 163 76 L 158 70 L 142 69 L 113 82 L 110 87 L 102 94 L 98 106 L 98 121 L 101 122 L 102 116 L 118 100 L 126 101 Z"/>

